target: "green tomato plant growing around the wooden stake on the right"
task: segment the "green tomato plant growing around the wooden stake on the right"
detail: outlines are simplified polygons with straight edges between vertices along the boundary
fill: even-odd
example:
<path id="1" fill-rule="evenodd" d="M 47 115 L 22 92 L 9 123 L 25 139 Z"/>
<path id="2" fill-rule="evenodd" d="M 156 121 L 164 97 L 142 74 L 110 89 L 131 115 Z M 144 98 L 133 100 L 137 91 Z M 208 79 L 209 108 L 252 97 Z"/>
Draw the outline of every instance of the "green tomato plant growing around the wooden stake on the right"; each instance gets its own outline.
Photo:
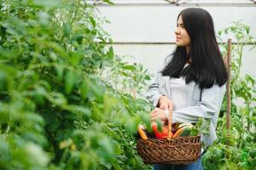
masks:
<path id="1" fill-rule="evenodd" d="M 253 44 L 253 48 L 256 46 L 249 26 L 242 24 L 241 21 L 233 22 L 233 25 L 218 31 L 218 39 L 223 42 L 220 45 L 223 55 L 227 53 L 228 48 L 227 43 L 224 43 L 223 36 L 233 35 L 237 42 L 232 46 L 231 54 L 231 129 L 230 131 L 226 129 L 227 99 L 225 96 L 218 120 L 218 140 L 202 158 L 206 169 L 254 169 L 256 167 L 256 159 L 253 154 L 256 148 L 255 78 L 250 75 L 241 77 L 240 74 L 245 43 Z M 242 105 L 236 105 L 237 99 L 242 101 Z"/>

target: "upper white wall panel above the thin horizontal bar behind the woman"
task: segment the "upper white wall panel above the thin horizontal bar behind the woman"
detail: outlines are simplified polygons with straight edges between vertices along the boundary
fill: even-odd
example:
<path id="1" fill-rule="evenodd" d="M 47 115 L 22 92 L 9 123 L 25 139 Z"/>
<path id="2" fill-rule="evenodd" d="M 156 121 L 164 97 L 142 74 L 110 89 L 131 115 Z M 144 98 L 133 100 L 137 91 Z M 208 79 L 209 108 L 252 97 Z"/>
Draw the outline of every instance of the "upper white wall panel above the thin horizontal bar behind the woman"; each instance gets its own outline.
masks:
<path id="1" fill-rule="evenodd" d="M 104 28 L 114 42 L 174 42 L 177 14 L 183 7 L 176 6 L 117 6 L 98 7 L 111 24 Z M 204 7 L 212 14 L 215 31 L 243 20 L 256 35 L 256 7 Z M 217 33 L 217 32 L 216 32 Z"/>

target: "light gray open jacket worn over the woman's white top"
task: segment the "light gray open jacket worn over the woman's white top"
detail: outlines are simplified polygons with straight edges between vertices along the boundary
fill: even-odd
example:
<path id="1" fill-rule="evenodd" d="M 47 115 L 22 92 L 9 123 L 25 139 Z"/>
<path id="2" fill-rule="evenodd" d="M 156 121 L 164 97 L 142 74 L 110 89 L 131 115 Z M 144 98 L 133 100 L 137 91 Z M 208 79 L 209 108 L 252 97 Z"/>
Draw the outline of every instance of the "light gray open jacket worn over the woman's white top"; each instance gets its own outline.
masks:
<path id="1" fill-rule="evenodd" d="M 163 77 L 159 72 L 171 59 L 172 56 L 160 65 L 153 81 L 149 84 L 146 98 L 154 105 L 154 107 L 158 104 L 161 95 L 166 95 L 166 97 L 172 99 L 170 77 Z M 203 141 L 206 146 L 211 145 L 212 142 L 217 139 L 215 129 L 217 126 L 219 110 L 226 91 L 226 84 L 221 87 L 219 87 L 218 84 L 214 84 L 212 88 L 203 89 L 202 93 L 195 82 L 189 82 L 187 86 L 188 93 L 186 97 L 186 106 L 178 110 L 173 108 L 172 123 L 197 122 L 199 117 L 210 118 L 210 135 L 204 136 L 201 134 L 201 141 Z"/>

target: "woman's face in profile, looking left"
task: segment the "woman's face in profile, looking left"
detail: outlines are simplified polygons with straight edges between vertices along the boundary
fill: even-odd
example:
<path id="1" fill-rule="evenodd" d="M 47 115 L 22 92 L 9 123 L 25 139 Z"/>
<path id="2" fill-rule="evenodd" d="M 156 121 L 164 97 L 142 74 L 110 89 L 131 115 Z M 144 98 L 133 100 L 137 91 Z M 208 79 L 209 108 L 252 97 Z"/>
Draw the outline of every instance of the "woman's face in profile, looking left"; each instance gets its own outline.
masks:
<path id="1" fill-rule="evenodd" d="M 176 44 L 178 47 L 185 47 L 187 51 L 189 50 L 190 46 L 190 37 L 188 32 L 186 31 L 184 25 L 183 25 L 183 19 L 181 15 L 178 17 L 177 20 L 177 28 L 174 31 L 176 36 Z"/>

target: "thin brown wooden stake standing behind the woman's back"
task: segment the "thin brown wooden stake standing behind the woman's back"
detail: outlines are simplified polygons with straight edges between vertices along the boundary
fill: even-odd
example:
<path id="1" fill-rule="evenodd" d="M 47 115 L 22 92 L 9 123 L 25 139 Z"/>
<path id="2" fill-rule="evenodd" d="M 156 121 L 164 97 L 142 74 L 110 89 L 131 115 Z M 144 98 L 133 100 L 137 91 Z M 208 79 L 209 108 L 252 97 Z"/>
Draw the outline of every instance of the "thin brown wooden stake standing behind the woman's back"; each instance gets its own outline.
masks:
<path id="1" fill-rule="evenodd" d="M 231 83 L 231 39 L 228 40 L 228 62 L 227 62 L 227 71 L 228 71 L 228 80 L 227 80 L 227 84 L 226 84 L 226 88 L 227 88 L 227 120 L 226 120 L 226 124 L 227 124 L 227 129 L 230 130 L 230 111 L 231 111 L 231 96 L 230 96 L 230 83 Z"/>

